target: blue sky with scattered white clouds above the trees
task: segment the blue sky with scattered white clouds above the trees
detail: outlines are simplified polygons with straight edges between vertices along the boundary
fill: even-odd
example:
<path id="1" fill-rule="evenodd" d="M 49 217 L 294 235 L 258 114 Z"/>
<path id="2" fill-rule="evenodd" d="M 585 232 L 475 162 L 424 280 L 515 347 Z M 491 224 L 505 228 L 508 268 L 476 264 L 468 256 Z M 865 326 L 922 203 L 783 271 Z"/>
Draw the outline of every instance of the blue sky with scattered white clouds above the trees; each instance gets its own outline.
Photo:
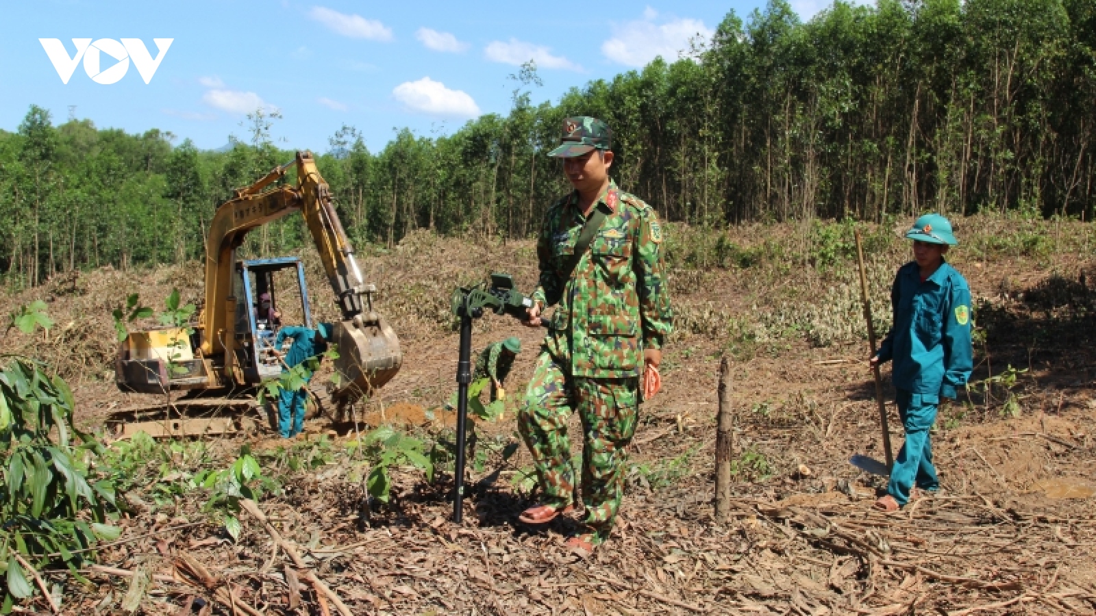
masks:
<path id="1" fill-rule="evenodd" d="M 796 7 L 817 10 L 800 0 Z M 277 109 L 278 146 L 327 151 L 340 126 L 357 127 L 376 151 L 393 128 L 448 134 L 483 113 L 506 113 L 516 65 L 535 59 L 544 80 L 534 101 L 557 101 L 572 85 L 676 57 L 689 36 L 710 35 L 733 9 L 745 16 L 762 2 L 676 0 L 601 2 L 0 2 L 0 128 L 14 130 L 28 105 L 64 122 L 79 118 L 130 133 L 157 127 L 199 148 L 218 148 L 256 106 Z M 68 83 L 39 38 L 58 38 L 68 60 L 78 48 L 99 58 L 101 81 L 129 62 L 114 83 L 96 83 L 94 58 L 82 58 Z M 128 53 L 139 38 L 147 58 Z M 138 66 L 173 41 L 149 83 Z M 123 48 L 124 47 L 124 48 Z M 139 61 L 144 59 L 144 61 Z M 176 142 L 179 142 L 176 140 Z"/>

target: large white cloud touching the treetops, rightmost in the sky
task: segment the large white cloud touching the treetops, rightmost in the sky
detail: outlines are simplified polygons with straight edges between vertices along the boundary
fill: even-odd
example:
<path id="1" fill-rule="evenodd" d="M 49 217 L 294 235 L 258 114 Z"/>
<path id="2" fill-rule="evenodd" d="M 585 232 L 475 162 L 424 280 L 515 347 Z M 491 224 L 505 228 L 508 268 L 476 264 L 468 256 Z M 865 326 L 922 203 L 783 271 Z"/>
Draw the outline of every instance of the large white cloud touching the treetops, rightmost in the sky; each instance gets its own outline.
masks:
<path id="1" fill-rule="evenodd" d="M 614 24 L 613 37 L 602 44 L 602 53 L 613 61 L 641 67 L 657 56 L 674 61 L 688 54 L 690 39 L 699 37 L 699 42 L 708 43 L 715 34 L 700 20 L 677 18 L 658 23 L 658 18 L 648 7 L 643 19 Z"/>

